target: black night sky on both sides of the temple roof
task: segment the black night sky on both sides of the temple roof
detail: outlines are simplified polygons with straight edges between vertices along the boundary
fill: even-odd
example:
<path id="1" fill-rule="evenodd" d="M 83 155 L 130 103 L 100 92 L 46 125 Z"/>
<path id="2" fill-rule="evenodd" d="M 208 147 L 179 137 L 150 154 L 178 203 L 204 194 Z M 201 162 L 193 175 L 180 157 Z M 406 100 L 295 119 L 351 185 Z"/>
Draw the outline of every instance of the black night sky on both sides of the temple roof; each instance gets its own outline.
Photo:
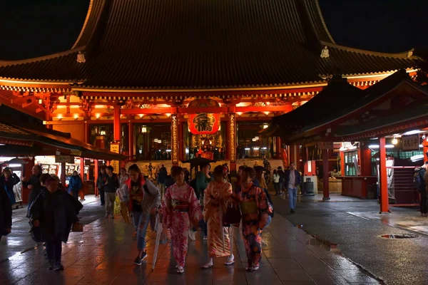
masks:
<path id="1" fill-rule="evenodd" d="M 0 60 L 68 50 L 81 31 L 88 3 L 0 0 Z M 340 45 L 384 52 L 428 47 L 428 1 L 320 0 L 320 5 Z"/>

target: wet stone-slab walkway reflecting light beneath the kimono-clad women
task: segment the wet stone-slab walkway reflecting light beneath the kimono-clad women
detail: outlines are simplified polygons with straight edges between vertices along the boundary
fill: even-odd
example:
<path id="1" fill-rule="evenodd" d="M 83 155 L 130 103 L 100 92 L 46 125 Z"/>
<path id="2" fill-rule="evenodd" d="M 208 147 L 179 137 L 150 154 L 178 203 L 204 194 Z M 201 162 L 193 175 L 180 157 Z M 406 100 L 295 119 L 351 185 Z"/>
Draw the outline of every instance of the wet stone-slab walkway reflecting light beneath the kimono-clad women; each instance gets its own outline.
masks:
<path id="1" fill-rule="evenodd" d="M 101 207 L 96 207 L 98 202 L 86 204 L 81 215 L 86 216 L 89 209 L 102 215 Z M 334 247 L 314 239 L 280 214 L 263 234 L 266 246 L 261 267 L 255 272 L 245 271 L 246 257 L 238 229 L 234 266 L 226 267 L 225 259 L 215 259 L 213 269 L 200 269 L 207 259 L 207 247 L 198 232 L 197 241 L 190 242 L 182 275 L 175 273 L 169 244 L 160 246 L 156 270 L 151 271 L 153 233 L 148 234 L 146 263 L 134 265 L 137 252 L 132 232 L 131 225 L 118 216 L 87 224 L 84 232 L 71 233 L 69 242 L 63 245 L 65 271 L 54 272 L 46 270 L 43 247 L 34 247 L 34 242 L 24 237 L 24 229 L 16 233 L 14 227 L 14 232 L 1 241 L 0 251 L 20 243 L 20 239 L 30 250 L 16 251 L 0 262 L 0 284 L 379 284 L 350 260 L 332 252 Z"/>

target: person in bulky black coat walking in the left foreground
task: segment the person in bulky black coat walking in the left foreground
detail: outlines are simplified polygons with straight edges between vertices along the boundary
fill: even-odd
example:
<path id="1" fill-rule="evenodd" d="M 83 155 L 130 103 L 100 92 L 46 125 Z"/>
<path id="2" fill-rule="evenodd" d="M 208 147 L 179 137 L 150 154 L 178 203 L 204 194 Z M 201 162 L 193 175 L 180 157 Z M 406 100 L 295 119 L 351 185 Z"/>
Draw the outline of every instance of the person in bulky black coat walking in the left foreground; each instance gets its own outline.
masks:
<path id="1" fill-rule="evenodd" d="M 61 264 L 61 242 L 68 241 L 71 226 L 78 218 L 68 193 L 58 190 L 58 181 L 49 177 L 45 183 L 46 190 L 41 190 L 31 207 L 31 223 L 34 228 L 39 228 L 37 242 L 46 242 L 48 270 L 58 271 L 64 269 Z"/>

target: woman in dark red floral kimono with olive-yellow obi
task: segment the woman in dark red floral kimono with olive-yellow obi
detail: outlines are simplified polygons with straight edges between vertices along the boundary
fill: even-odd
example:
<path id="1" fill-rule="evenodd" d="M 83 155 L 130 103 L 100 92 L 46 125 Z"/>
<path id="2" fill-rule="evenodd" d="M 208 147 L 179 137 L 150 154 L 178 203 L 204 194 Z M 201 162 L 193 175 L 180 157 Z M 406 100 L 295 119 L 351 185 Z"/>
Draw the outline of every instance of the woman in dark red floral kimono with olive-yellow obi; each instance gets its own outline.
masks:
<path id="1" fill-rule="evenodd" d="M 243 237 L 247 253 L 248 271 L 258 270 L 262 257 L 262 231 L 272 209 L 269 207 L 265 191 L 253 185 L 255 171 L 245 167 L 240 177 L 240 190 L 235 198 L 240 202 L 243 214 Z"/>

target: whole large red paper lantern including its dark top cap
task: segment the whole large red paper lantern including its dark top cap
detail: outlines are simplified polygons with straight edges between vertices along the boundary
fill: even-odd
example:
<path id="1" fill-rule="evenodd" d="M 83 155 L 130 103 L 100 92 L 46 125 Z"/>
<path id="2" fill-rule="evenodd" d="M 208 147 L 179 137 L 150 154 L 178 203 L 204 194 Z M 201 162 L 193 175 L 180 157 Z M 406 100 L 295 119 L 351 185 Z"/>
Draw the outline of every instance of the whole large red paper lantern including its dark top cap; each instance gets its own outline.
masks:
<path id="1" fill-rule="evenodd" d="M 220 107 L 211 99 L 197 99 L 190 102 L 189 108 L 210 108 Z M 189 114 L 188 125 L 190 133 L 193 135 L 213 135 L 220 130 L 220 114 L 197 113 Z"/>

